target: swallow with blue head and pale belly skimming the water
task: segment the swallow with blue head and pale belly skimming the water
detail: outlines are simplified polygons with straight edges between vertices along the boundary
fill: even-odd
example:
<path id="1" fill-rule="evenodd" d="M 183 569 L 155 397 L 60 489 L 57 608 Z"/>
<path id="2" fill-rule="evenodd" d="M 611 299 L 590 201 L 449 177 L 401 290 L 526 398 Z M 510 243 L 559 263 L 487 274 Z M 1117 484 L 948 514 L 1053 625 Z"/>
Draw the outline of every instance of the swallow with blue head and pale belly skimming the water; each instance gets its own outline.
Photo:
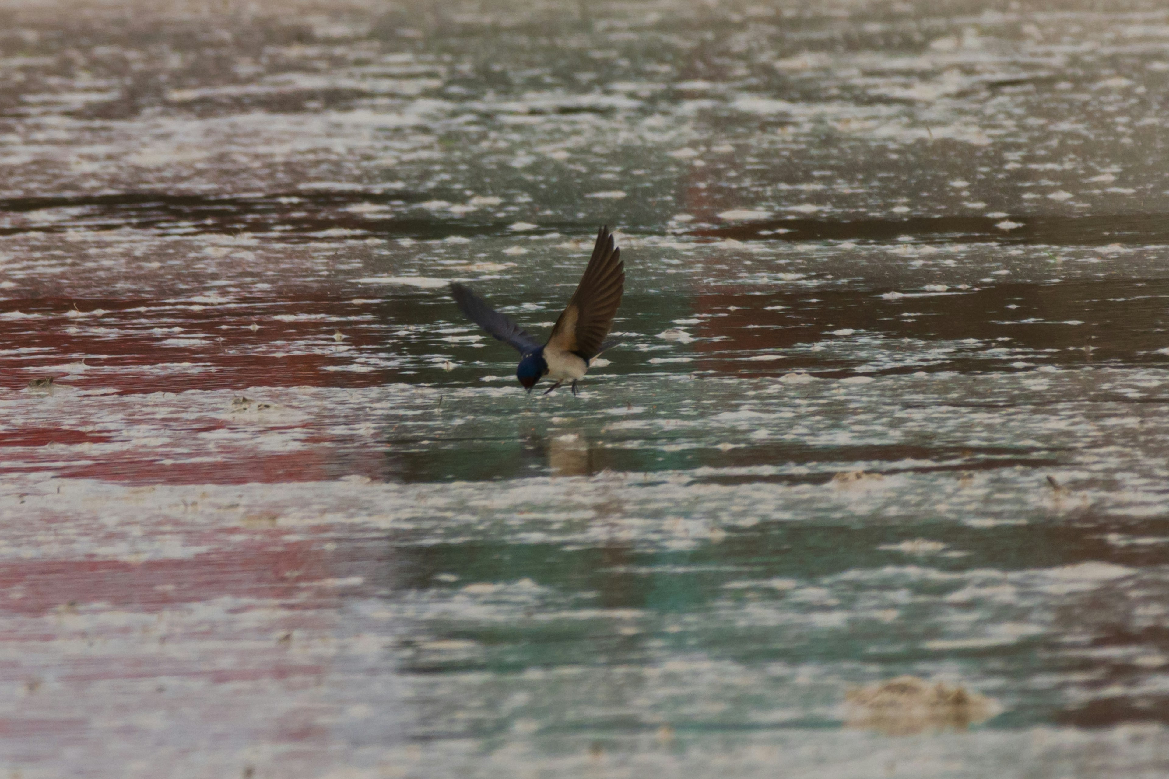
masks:
<path id="1" fill-rule="evenodd" d="M 593 359 L 617 342 L 606 341 L 604 336 L 613 327 L 624 286 L 625 265 L 621 262 L 621 250 L 614 244 L 609 228 L 602 227 L 596 234 L 584 276 L 544 346 L 470 287 L 451 284 L 450 294 L 468 319 L 520 353 L 516 377 L 524 389 L 531 392 L 547 376 L 555 384 L 545 395 L 569 380 L 573 395 L 576 395 L 576 382 L 584 376 Z"/>

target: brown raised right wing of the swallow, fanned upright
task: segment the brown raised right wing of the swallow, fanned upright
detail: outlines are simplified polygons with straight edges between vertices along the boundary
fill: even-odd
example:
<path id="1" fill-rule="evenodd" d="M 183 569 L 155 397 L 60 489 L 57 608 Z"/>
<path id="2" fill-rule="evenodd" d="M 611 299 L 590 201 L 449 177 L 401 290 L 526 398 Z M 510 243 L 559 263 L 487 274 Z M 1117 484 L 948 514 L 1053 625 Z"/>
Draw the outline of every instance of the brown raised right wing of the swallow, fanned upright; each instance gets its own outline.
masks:
<path id="1" fill-rule="evenodd" d="M 609 228 L 603 227 L 596 234 L 584 276 L 552 328 L 548 345 L 574 352 L 584 360 L 595 357 L 613 327 L 624 287 L 625 265 L 621 262 L 621 250 L 614 244 Z"/>

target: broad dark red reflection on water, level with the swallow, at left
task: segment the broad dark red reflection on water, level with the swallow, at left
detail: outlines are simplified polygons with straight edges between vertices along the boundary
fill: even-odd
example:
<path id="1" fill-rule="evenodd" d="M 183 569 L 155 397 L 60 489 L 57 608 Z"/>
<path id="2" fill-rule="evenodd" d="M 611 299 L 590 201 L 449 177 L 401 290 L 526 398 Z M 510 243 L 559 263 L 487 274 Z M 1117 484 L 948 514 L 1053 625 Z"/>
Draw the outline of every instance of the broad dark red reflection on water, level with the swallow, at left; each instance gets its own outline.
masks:
<path id="1" fill-rule="evenodd" d="M 288 321 L 289 312 L 302 321 Z M 256 384 L 369 387 L 385 383 L 389 371 L 325 370 L 346 366 L 353 350 L 379 346 L 376 335 L 352 326 L 368 325 L 369 314 L 368 305 L 295 294 L 230 305 L 8 299 L 0 302 L 0 343 L 18 348 L 0 352 L 0 373 L 6 376 L 5 385 L 19 389 L 34 377 L 60 381 L 65 370 L 79 367 L 68 363 L 84 360 L 84 368 L 68 376 L 69 384 L 117 392 Z M 334 333 L 340 327 L 346 333 L 338 342 Z M 317 348 L 307 353 L 305 346 Z M 340 346 L 345 349 L 330 350 Z M 298 350 L 285 354 L 289 348 Z M 198 370 L 185 371 L 192 363 Z"/>

